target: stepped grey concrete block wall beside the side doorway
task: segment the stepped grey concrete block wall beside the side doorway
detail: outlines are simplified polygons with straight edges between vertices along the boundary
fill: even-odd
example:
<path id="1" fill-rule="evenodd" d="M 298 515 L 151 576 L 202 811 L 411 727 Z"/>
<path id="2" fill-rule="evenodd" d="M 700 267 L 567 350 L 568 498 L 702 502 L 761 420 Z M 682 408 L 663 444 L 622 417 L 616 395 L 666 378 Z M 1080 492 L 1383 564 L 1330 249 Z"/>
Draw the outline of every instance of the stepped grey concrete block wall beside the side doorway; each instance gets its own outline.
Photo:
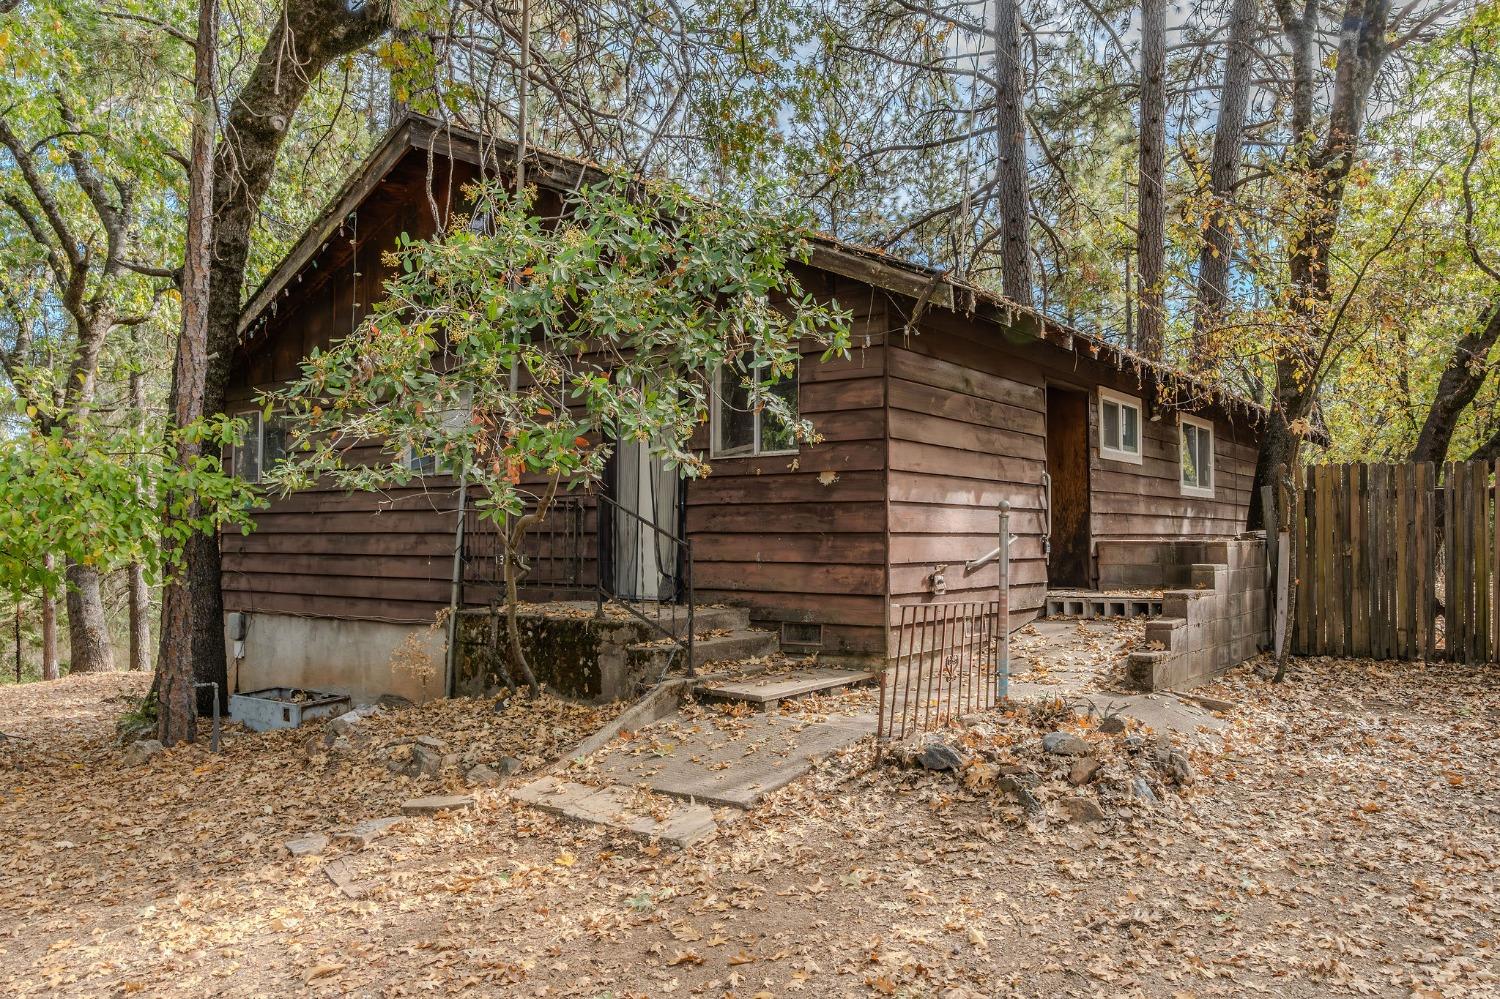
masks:
<path id="1" fill-rule="evenodd" d="M 1146 624 L 1146 640 L 1152 648 L 1131 652 L 1128 663 L 1137 688 L 1194 687 L 1252 658 L 1269 645 L 1266 543 L 1262 536 L 1156 544 L 1182 544 L 1192 554 L 1204 555 L 1204 561 L 1190 567 L 1191 588 L 1164 592 L 1161 616 Z M 1178 552 L 1179 556 L 1182 554 Z"/>

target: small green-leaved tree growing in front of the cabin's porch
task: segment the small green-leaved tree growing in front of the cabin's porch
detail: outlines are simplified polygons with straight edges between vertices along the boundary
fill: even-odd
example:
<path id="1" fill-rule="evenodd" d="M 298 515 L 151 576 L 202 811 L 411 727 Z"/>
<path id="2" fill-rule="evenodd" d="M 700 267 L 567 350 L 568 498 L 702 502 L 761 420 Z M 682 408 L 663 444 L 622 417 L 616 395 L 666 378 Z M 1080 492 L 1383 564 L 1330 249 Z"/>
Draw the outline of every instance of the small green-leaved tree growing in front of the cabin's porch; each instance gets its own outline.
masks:
<path id="1" fill-rule="evenodd" d="M 536 692 L 516 627 L 518 555 L 555 496 L 600 482 L 616 441 L 708 474 L 690 442 L 724 366 L 764 418 L 816 440 L 770 388 L 795 372 L 804 342 L 846 352 L 849 322 L 802 290 L 790 264 L 806 261 L 806 238 L 764 198 L 724 207 L 615 177 L 543 219 L 530 192 L 482 183 L 468 195 L 472 214 L 435 238 L 402 236 L 387 297 L 266 399 L 291 442 L 272 482 L 382 489 L 408 483 L 422 454 L 477 488 L 506 552 L 512 675 Z M 378 460 L 350 460 L 372 440 L 384 441 Z"/>

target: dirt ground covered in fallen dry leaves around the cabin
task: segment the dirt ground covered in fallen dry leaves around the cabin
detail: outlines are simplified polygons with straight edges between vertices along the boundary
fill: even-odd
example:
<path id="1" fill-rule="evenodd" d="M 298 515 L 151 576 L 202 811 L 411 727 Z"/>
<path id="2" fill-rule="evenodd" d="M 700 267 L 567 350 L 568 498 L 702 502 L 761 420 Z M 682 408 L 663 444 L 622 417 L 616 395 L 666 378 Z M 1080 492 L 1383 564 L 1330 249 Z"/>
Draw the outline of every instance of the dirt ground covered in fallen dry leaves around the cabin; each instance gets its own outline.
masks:
<path id="1" fill-rule="evenodd" d="M 686 852 L 496 788 L 302 860 L 288 837 L 459 778 L 238 732 L 130 766 L 116 698 L 144 682 L 0 690 L 24 738 L 0 742 L 0 994 L 1500 996 L 1497 669 L 1240 669 L 1206 688 L 1238 705 L 1222 752 L 1128 820 L 1028 819 L 870 770 L 866 741 Z M 458 700 L 372 724 L 536 766 L 598 722 Z"/>

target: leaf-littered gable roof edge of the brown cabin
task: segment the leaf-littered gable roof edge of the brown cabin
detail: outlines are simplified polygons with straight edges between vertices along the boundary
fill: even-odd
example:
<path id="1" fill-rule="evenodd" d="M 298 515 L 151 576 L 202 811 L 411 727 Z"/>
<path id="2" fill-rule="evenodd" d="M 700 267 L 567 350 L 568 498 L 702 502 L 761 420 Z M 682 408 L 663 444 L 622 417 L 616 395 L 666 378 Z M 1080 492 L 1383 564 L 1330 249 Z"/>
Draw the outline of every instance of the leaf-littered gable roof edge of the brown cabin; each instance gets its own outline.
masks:
<path id="1" fill-rule="evenodd" d="M 297 274 L 327 246 L 344 219 L 356 212 L 396 164 L 412 150 L 483 165 L 495 162 L 496 158 L 508 160 L 514 154 L 514 144 L 482 136 L 477 132 L 424 116 L 405 116 L 364 158 L 364 162 L 350 174 L 318 219 L 246 300 L 240 310 L 237 330 L 237 339 L 242 345 L 248 345 L 255 339 L 256 332 L 266 327 L 267 312 L 273 312 L 278 296 L 284 294 Z M 604 170 L 597 164 L 538 148 L 531 150 L 526 170 L 537 184 L 554 190 L 574 190 L 591 180 L 604 177 Z M 808 266 L 914 300 L 915 309 L 909 326 L 915 326 L 916 318 L 932 308 L 969 315 L 1018 330 L 1118 370 L 1132 372 L 1138 384 L 1143 388 L 1154 388 L 1156 398 L 1167 408 L 1197 410 L 1204 405 L 1220 405 L 1230 416 L 1239 412 L 1252 422 L 1260 422 L 1268 416 L 1266 408 L 1260 404 L 1215 382 L 1191 375 L 1180 368 L 1149 360 L 1136 351 L 1070 327 L 999 292 L 957 279 L 944 270 L 903 260 L 873 246 L 837 240 L 822 232 L 810 232 L 807 238 L 812 246 Z"/>

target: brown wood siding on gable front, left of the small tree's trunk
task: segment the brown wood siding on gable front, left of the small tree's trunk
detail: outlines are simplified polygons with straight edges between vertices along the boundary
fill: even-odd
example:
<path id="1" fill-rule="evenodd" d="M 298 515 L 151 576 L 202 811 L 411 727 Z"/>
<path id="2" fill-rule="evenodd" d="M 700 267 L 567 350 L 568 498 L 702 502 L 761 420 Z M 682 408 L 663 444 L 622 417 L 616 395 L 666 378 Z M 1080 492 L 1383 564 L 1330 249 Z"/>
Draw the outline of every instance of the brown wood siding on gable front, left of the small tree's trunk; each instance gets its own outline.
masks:
<path id="1" fill-rule="evenodd" d="M 438 165 L 434 194 L 447 208 L 446 160 Z M 464 164 L 458 170 L 460 184 L 472 176 Z M 236 357 L 231 412 L 254 408 L 256 393 L 296 378 L 315 346 L 326 348 L 354 328 L 390 276 L 381 255 L 400 232 L 420 238 L 435 231 L 426 190 L 426 156 L 408 153 L 358 213 L 345 219 L 342 232 L 314 258 L 316 266 L 278 302 L 266 328 L 250 330 Z M 232 454 L 228 464 L 232 468 Z M 272 500 L 255 513 L 255 531 L 220 538 L 225 609 L 432 621 L 448 606 L 458 492 L 448 476 L 426 482 L 428 488 L 384 494 L 326 488 Z"/>

